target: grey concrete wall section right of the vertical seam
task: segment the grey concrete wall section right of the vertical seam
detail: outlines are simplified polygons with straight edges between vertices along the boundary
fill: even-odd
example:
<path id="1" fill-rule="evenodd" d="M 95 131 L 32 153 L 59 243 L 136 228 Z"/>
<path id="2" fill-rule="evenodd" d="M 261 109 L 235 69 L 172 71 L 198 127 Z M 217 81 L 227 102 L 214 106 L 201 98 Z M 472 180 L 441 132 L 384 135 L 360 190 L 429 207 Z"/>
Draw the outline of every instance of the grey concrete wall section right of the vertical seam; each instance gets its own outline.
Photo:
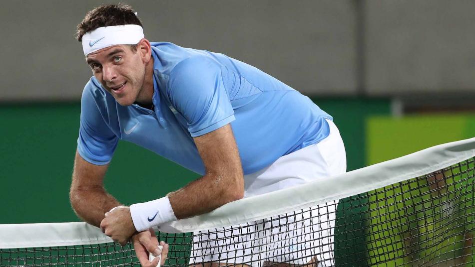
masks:
<path id="1" fill-rule="evenodd" d="M 475 1 L 366 1 L 367 92 L 475 92 Z"/>

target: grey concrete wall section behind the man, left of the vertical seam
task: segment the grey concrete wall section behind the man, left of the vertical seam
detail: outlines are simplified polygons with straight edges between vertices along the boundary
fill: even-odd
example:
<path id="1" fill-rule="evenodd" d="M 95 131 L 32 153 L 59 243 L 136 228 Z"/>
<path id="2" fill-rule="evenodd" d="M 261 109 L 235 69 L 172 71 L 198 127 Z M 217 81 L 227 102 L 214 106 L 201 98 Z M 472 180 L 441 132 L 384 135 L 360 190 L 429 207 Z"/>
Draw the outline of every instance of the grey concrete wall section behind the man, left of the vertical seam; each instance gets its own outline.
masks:
<path id="1" fill-rule="evenodd" d="M 103 1 L 3 1 L 0 100 L 76 100 L 91 73 L 75 26 Z M 146 37 L 222 52 L 309 94 L 355 88 L 349 0 L 131 0 Z"/>

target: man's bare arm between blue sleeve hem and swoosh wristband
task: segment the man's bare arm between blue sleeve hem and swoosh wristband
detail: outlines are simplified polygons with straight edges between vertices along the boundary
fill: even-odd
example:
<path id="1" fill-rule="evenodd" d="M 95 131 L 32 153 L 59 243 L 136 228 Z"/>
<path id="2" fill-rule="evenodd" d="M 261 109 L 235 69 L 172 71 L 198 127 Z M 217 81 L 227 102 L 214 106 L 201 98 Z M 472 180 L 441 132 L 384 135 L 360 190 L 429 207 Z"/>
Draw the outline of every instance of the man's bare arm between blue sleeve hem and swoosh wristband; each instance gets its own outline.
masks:
<path id="1" fill-rule="evenodd" d="M 194 138 L 206 174 L 168 195 L 178 219 L 203 214 L 244 197 L 244 177 L 231 126 Z"/>

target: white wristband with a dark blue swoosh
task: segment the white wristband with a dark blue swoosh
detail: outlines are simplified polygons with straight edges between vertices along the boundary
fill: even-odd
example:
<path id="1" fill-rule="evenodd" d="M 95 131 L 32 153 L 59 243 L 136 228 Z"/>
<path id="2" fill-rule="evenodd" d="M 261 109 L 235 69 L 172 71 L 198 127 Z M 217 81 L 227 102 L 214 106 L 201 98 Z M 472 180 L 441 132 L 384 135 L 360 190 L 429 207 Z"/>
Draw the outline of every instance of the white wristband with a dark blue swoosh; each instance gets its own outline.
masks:
<path id="1" fill-rule="evenodd" d="M 168 196 L 144 203 L 132 204 L 130 205 L 130 214 L 138 232 L 176 220 Z"/>

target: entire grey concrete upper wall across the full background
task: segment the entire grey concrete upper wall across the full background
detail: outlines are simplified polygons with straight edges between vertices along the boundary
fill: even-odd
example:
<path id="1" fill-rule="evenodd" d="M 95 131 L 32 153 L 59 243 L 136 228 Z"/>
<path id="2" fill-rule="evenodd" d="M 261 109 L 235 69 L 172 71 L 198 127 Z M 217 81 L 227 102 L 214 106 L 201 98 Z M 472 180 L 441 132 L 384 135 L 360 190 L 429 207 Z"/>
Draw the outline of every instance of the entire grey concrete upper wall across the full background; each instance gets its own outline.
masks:
<path id="1" fill-rule="evenodd" d="M 103 1 L 5 0 L 0 102 L 78 100 L 76 24 Z M 314 96 L 475 95 L 468 0 L 130 0 L 146 36 L 222 52 Z"/>

